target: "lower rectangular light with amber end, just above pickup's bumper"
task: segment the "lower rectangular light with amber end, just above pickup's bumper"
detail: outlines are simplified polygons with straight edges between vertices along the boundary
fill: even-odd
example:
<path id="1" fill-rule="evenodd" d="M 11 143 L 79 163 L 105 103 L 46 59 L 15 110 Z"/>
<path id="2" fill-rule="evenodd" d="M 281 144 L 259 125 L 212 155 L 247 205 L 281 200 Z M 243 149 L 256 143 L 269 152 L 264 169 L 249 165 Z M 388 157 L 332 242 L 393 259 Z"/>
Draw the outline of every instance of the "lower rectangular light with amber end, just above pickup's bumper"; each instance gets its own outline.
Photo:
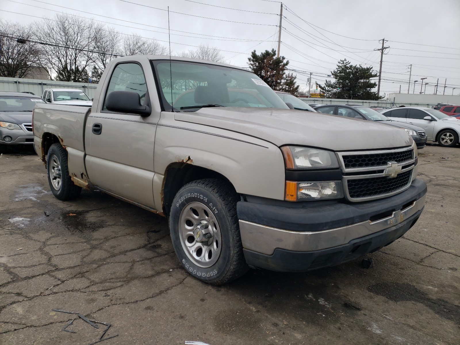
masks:
<path id="1" fill-rule="evenodd" d="M 343 188 L 341 181 L 286 181 L 287 201 L 327 200 L 341 198 L 343 198 Z"/>

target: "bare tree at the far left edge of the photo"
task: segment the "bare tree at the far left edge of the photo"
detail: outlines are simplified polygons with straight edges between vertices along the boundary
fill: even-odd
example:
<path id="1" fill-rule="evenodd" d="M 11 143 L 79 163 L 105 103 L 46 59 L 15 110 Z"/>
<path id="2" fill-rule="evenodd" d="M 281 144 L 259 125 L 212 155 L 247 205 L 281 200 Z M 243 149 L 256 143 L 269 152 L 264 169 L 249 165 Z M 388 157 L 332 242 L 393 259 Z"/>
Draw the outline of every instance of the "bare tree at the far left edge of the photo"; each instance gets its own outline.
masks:
<path id="1" fill-rule="evenodd" d="M 40 46 L 30 42 L 30 27 L 0 19 L 0 76 L 23 78 L 39 66 Z"/>

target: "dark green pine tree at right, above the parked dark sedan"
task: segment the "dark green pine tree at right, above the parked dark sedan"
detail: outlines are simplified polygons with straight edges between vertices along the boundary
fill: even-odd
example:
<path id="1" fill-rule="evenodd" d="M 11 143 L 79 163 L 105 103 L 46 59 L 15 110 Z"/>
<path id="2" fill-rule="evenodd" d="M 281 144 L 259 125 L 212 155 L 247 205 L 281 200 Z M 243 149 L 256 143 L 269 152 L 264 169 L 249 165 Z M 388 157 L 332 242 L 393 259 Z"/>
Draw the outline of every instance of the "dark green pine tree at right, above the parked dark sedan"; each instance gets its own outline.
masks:
<path id="1" fill-rule="evenodd" d="M 346 59 L 340 60 L 337 68 L 331 72 L 335 81 L 326 81 L 324 86 L 316 83 L 316 86 L 326 94 L 328 98 L 341 99 L 364 99 L 379 100 L 382 97 L 372 89 L 377 84 L 371 78 L 378 77 L 372 67 L 352 65 Z"/>

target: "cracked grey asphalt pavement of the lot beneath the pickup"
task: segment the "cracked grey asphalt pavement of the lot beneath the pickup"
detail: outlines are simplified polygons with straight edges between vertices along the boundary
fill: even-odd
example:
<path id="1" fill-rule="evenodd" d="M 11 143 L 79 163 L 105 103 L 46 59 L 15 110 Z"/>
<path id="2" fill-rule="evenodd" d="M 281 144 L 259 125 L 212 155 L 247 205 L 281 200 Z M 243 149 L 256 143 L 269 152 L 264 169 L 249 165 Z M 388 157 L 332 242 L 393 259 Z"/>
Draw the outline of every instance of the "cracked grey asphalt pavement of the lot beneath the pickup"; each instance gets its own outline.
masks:
<path id="1" fill-rule="evenodd" d="M 56 308 L 109 322 L 104 345 L 460 344 L 460 148 L 419 153 L 425 211 L 374 267 L 250 270 L 222 287 L 181 268 L 166 219 L 99 192 L 59 201 L 35 154 L 3 154 L 0 344 L 100 339 L 104 325 Z"/>

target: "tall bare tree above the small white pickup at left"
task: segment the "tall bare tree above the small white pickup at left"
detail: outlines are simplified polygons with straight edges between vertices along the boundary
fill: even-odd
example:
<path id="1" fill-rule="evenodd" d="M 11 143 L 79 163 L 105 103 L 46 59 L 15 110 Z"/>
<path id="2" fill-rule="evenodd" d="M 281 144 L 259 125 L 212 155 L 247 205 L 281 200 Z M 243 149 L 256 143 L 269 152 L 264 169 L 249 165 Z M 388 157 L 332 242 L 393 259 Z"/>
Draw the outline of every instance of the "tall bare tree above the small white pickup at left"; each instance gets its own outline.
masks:
<path id="1" fill-rule="evenodd" d="M 60 81 L 85 81 L 87 68 L 95 60 L 94 22 L 69 14 L 56 14 L 34 24 L 37 40 L 46 42 L 40 62 L 57 74 Z"/>

